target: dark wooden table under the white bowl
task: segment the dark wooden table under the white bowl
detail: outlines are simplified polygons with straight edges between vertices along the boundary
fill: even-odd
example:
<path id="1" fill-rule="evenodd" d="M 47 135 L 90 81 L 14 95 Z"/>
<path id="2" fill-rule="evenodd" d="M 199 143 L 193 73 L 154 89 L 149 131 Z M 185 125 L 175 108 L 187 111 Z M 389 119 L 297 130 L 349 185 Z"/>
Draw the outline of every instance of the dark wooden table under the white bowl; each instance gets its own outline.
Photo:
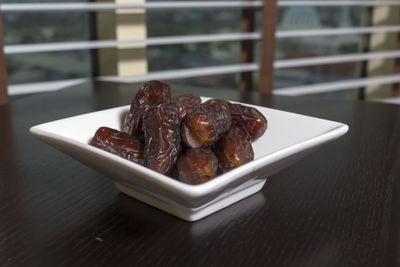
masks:
<path id="1" fill-rule="evenodd" d="M 87 83 L 0 107 L 0 266 L 400 263 L 400 106 L 198 91 L 350 130 L 272 176 L 261 192 L 189 223 L 119 193 L 104 175 L 28 133 L 129 104 L 136 88 Z"/>

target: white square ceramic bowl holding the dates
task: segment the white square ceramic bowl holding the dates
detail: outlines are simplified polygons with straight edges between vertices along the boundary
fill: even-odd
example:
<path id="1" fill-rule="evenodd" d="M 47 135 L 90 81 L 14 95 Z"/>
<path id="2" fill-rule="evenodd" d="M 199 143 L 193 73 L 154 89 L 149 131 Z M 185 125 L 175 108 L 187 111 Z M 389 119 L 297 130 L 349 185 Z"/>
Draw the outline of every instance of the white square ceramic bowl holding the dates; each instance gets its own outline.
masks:
<path id="1" fill-rule="evenodd" d="M 202 97 L 203 102 L 207 99 Z M 348 130 L 347 125 L 334 121 L 253 107 L 268 120 L 266 133 L 253 143 L 254 160 L 200 185 L 182 183 L 89 145 L 99 127 L 120 129 L 129 106 L 36 125 L 30 132 L 105 173 L 121 192 L 184 220 L 196 221 L 258 192 L 267 177 Z"/>

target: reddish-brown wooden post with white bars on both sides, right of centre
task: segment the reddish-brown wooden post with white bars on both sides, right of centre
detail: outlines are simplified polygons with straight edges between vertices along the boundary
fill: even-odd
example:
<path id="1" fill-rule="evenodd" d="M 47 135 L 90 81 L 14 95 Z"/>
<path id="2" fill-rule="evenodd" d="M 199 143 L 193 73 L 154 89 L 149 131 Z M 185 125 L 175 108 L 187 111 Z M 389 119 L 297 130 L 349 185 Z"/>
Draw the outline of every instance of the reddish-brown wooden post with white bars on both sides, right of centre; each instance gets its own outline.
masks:
<path id="1" fill-rule="evenodd" d="M 274 87 L 275 28 L 277 18 L 277 0 L 264 0 L 259 84 L 260 92 L 264 93 L 271 93 Z"/>

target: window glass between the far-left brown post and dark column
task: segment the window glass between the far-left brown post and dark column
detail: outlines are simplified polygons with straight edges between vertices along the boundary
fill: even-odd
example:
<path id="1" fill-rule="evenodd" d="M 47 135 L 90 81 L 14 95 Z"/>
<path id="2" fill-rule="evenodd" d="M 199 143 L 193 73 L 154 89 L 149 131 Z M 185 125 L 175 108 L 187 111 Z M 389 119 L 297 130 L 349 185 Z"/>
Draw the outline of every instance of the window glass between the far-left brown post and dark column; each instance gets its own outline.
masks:
<path id="1" fill-rule="evenodd" d="M 3 13 L 4 41 L 13 45 L 89 40 L 89 16 L 86 12 Z M 9 54 L 6 59 L 10 84 L 88 77 L 92 73 L 90 51 Z"/>

